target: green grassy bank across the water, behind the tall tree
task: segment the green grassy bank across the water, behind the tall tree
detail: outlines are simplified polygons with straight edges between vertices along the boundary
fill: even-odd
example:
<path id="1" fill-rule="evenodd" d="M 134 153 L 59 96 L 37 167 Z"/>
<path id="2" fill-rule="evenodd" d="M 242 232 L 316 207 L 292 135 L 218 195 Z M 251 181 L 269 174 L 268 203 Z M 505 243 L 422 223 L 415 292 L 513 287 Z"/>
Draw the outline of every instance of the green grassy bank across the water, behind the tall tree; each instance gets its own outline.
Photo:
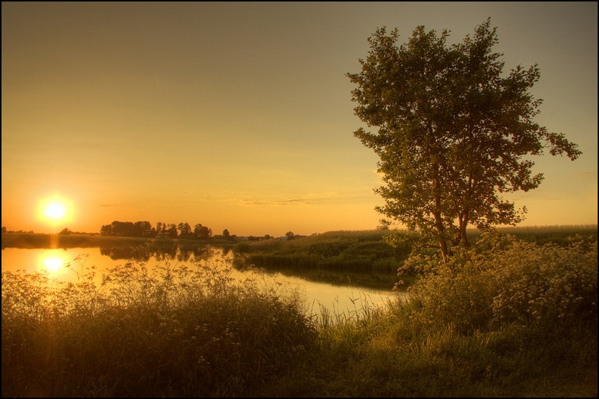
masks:
<path id="1" fill-rule="evenodd" d="M 498 231 L 539 245 L 555 243 L 567 246 L 577 235 L 586 241 L 597 240 L 596 225 L 507 227 Z M 233 248 L 235 266 L 254 265 L 281 272 L 285 268 L 292 268 L 303 271 L 322 269 L 395 273 L 412 252 L 412 246 L 407 239 L 392 246 L 385 240 L 385 236 L 391 233 L 389 230 L 340 231 L 287 241 L 245 241 L 237 243 Z M 405 236 L 406 232 L 398 231 L 393 234 Z M 477 230 L 469 232 L 473 243 L 480 236 L 481 233 Z M 407 275 L 402 279 L 406 284 L 413 280 Z M 338 282 L 342 284 L 342 280 Z"/>

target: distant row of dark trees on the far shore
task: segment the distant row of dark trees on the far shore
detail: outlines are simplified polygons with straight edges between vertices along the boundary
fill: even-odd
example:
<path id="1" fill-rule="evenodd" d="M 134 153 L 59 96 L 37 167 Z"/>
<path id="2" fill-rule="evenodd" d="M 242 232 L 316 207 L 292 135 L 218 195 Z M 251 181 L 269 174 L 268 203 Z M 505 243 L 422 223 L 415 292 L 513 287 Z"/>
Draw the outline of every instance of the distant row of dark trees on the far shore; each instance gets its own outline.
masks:
<path id="1" fill-rule="evenodd" d="M 104 224 L 100 228 L 102 236 L 120 236 L 120 237 L 164 237 L 171 239 L 210 239 L 212 229 L 196 224 L 193 229 L 187 222 L 179 224 L 168 224 L 163 222 L 156 223 L 156 227 L 147 221 L 140 222 L 118 222 L 115 220 L 111 224 Z M 223 238 L 232 238 L 227 229 L 223 232 Z"/>

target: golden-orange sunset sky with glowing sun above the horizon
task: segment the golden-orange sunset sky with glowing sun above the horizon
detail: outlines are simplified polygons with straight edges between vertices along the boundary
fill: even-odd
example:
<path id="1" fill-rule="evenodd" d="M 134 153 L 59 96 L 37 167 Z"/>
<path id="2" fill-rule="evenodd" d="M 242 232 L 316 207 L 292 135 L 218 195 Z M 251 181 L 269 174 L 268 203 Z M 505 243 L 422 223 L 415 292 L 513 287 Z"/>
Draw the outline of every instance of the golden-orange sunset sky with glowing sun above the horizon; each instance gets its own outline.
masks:
<path id="1" fill-rule="evenodd" d="M 538 63 L 546 154 L 521 226 L 596 224 L 596 2 L 2 2 L 2 226 L 113 220 L 221 234 L 374 229 L 378 157 L 345 76 L 366 39 L 419 25 L 462 42 L 491 18 L 505 72 Z M 398 44 L 400 44 L 398 43 Z M 376 128 L 375 128 L 376 129 Z M 374 131 L 375 129 L 369 129 Z M 51 201 L 54 213 L 44 213 Z M 54 218 L 52 218 L 54 216 Z M 400 227 L 400 226 L 398 226 Z"/>

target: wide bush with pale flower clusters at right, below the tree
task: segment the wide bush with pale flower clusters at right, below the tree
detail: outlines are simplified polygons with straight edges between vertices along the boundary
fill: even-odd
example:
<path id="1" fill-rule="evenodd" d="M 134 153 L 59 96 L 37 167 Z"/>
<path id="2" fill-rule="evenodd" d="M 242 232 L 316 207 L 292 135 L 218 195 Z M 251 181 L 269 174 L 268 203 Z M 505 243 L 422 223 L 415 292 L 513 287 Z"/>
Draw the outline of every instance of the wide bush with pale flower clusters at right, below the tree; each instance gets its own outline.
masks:
<path id="1" fill-rule="evenodd" d="M 597 241 L 568 247 L 484 236 L 443 264 L 410 258 L 405 267 L 428 272 L 409 289 L 415 323 L 446 324 L 461 334 L 511 324 L 539 331 L 597 327 Z"/>

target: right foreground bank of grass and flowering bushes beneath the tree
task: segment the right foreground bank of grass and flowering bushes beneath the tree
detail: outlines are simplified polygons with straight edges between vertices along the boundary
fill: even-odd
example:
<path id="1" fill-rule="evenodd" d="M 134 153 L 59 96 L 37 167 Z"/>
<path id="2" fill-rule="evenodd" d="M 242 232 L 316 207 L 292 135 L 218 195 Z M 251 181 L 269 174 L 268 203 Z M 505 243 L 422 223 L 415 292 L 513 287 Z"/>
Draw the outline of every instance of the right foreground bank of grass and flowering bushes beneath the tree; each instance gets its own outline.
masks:
<path id="1" fill-rule="evenodd" d="M 478 244 L 450 265 L 419 258 L 434 271 L 386 311 L 321 322 L 319 357 L 272 393 L 596 397 L 596 241 Z"/>

